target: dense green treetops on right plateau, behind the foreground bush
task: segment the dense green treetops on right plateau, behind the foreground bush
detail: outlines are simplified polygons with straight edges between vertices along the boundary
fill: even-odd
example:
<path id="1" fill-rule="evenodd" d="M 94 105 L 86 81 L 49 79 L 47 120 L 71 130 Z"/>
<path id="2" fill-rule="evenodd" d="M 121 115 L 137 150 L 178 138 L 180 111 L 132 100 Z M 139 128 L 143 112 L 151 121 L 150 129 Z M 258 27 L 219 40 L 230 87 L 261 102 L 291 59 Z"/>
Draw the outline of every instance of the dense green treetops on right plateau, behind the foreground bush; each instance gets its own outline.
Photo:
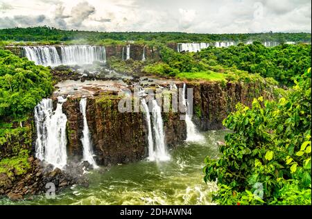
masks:
<path id="1" fill-rule="evenodd" d="M 195 56 L 198 60 L 205 59 L 225 67 L 260 73 L 265 78 L 275 78 L 283 85 L 293 85 L 293 77 L 311 66 L 311 45 L 282 44 L 266 47 L 260 42 L 254 42 L 227 48 L 210 46 Z"/>

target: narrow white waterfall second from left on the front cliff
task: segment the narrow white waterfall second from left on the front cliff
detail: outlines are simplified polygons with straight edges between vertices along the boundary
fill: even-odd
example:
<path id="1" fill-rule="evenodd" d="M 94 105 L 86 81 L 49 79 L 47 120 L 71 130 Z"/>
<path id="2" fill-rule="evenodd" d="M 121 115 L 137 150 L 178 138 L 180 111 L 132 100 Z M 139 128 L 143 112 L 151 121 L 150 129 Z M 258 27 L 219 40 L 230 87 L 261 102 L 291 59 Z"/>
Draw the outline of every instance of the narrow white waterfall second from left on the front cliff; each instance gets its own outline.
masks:
<path id="1" fill-rule="evenodd" d="M 90 139 L 90 132 L 87 123 L 87 98 L 81 98 L 80 100 L 80 112 L 83 114 L 83 137 L 80 139 L 81 143 L 83 143 L 83 160 L 88 161 L 89 164 L 93 166 L 93 168 L 98 168 L 96 166 L 96 161 L 92 155 L 92 144 Z"/>

